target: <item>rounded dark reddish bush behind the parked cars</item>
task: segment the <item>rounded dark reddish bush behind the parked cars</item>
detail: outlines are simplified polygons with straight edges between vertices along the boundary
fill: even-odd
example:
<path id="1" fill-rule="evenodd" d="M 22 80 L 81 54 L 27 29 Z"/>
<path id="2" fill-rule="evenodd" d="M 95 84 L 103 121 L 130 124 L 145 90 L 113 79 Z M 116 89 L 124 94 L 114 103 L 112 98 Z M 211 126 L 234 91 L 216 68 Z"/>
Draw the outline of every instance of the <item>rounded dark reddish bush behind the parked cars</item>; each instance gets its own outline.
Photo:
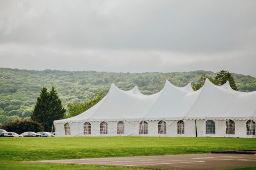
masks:
<path id="1" fill-rule="evenodd" d="M 23 133 L 26 131 L 39 132 L 44 131 L 43 125 L 33 120 L 16 120 L 3 124 L 0 129 L 4 129 L 7 132 Z"/>

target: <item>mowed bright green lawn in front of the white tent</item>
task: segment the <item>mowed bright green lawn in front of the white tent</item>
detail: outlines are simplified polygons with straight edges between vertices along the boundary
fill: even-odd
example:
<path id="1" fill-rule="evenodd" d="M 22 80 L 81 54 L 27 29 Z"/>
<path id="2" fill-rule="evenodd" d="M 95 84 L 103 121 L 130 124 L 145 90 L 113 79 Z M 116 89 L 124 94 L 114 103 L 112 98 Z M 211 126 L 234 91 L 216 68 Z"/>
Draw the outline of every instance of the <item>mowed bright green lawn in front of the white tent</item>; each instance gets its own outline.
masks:
<path id="1" fill-rule="evenodd" d="M 20 161 L 210 153 L 256 149 L 253 138 L 215 137 L 53 137 L 0 138 L 0 170 L 143 169 Z"/>

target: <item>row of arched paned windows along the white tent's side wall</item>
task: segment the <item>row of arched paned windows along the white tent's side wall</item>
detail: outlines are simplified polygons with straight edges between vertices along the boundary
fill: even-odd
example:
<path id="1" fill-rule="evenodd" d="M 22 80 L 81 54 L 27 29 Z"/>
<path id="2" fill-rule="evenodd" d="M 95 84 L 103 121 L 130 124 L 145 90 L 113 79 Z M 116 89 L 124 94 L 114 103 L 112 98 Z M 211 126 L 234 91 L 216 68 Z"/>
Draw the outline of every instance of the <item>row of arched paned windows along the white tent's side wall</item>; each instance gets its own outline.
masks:
<path id="1" fill-rule="evenodd" d="M 253 120 L 248 120 L 246 122 L 246 134 L 247 135 L 255 135 L 255 127 L 256 124 Z M 177 134 L 184 134 L 184 121 L 180 120 L 177 122 Z M 64 124 L 65 135 L 70 135 L 70 124 Z M 100 123 L 100 134 L 108 134 L 108 123 L 101 122 Z M 119 121 L 117 123 L 117 132 L 118 135 L 125 133 L 125 123 Z M 148 134 L 148 123 L 145 121 L 140 122 L 140 134 Z M 215 122 L 213 120 L 206 121 L 206 134 L 215 134 Z M 89 122 L 84 123 L 84 135 L 91 134 L 91 124 Z M 166 122 L 161 120 L 158 122 L 158 134 L 166 134 Z M 227 120 L 226 122 L 226 134 L 235 134 L 235 122 L 233 120 Z"/>

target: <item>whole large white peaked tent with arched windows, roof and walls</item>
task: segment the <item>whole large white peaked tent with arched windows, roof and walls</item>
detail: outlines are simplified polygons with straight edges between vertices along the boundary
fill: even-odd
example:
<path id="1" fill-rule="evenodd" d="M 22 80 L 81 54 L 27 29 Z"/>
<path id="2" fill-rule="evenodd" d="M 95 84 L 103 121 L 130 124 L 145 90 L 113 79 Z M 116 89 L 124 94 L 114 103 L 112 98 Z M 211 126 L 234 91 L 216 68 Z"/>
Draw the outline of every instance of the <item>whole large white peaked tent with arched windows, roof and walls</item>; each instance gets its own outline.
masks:
<path id="1" fill-rule="evenodd" d="M 57 136 L 222 136 L 256 137 L 256 91 L 239 92 L 208 79 L 198 91 L 191 84 L 166 81 L 157 94 L 135 86 L 108 94 L 84 113 L 54 121 Z"/>

